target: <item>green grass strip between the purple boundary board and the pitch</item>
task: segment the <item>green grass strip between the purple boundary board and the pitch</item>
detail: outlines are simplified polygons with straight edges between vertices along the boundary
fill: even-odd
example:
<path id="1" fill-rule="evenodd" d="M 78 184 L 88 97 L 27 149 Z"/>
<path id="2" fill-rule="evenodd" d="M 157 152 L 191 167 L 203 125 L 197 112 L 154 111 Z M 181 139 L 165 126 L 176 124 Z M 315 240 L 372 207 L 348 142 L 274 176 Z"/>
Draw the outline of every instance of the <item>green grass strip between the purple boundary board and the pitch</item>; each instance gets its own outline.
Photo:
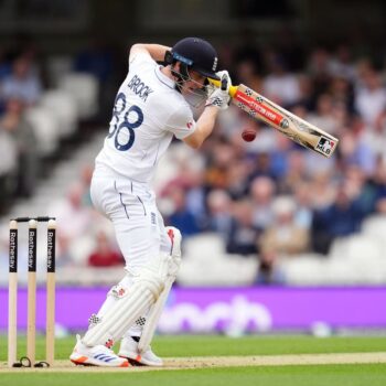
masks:
<path id="1" fill-rule="evenodd" d="M 18 354 L 25 353 L 25 337 L 21 336 Z M 75 344 L 75 336 L 56 340 L 56 360 L 66 360 Z M 304 335 L 244 336 L 157 336 L 152 344 L 160 356 L 224 356 L 282 355 L 313 353 L 369 353 L 386 350 L 386 336 L 333 336 L 317 339 Z M 36 357 L 43 358 L 45 342 L 37 337 Z M 0 337 L 0 361 L 7 358 L 7 339 Z"/>

